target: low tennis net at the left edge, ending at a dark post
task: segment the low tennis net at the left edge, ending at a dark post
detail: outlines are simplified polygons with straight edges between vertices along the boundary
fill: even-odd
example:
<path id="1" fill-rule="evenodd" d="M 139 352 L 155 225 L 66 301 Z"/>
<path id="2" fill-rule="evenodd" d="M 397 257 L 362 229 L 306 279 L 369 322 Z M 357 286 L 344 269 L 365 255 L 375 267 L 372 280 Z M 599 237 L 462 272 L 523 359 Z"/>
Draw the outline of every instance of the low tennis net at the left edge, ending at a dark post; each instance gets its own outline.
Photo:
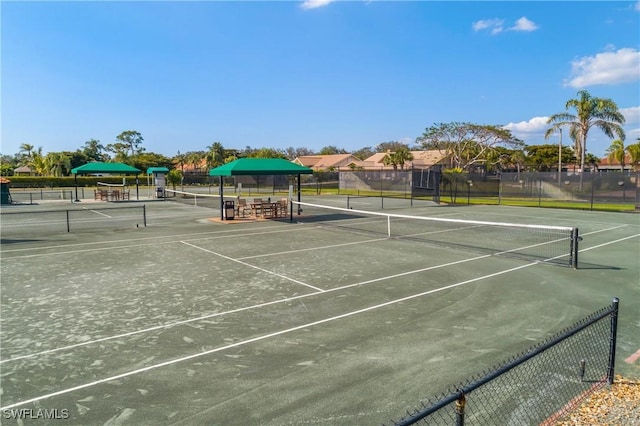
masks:
<path id="1" fill-rule="evenodd" d="M 146 227 L 147 212 L 144 204 L 82 210 L 2 211 L 0 224 L 0 234 L 6 240 L 96 229 Z"/>

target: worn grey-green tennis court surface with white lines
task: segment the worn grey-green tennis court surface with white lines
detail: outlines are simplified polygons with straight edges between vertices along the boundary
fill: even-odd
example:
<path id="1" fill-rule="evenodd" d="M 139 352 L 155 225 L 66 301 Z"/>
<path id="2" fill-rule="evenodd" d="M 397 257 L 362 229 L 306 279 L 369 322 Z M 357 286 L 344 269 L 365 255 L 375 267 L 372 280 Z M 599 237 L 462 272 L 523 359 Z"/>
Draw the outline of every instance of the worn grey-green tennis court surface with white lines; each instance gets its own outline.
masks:
<path id="1" fill-rule="evenodd" d="M 303 201 L 346 206 L 338 196 Z M 378 203 L 349 209 L 379 211 Z M 613 297 L 616 372 L 640 377 L 639 215 L 393 209 L 576 227 L 574 269 L 539 254 L 488 253 L 498 237 L 462 226 L 448 245 L 343 226 L 310 206 L 290 223 L 221 222 L 218 210 L 176 202 L 123 204 L 144 205 L 144 217 L 86 200 L 3 207 L 3 424 L 18 424 L 7 413 L 23 409 L 82 425 L 380 424 Z M 84 211 L 77 231 L 60 231 L 57 217 L 18 230 L 20 220 L 4 216 L 69 208 Z"/>

